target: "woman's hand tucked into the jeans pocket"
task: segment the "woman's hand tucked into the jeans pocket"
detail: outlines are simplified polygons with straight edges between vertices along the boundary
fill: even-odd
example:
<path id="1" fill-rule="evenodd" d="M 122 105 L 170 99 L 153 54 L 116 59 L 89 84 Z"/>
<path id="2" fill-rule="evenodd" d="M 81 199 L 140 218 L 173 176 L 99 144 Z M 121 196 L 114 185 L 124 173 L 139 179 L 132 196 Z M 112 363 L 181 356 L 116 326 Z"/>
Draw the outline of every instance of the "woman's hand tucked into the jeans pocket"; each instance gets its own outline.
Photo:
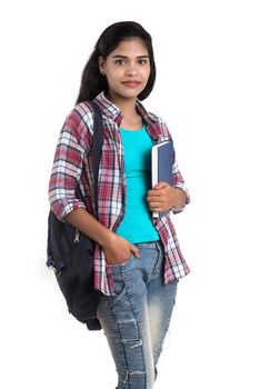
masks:
<path id="1" fill-rule="evenodd" d="M 108 241 L 102 246 L 106 262 L 108 265 L 120 265 L 128 261 L 131 252 L 140 258 L 139 249 L 116 233 L 110 235 Z"/>

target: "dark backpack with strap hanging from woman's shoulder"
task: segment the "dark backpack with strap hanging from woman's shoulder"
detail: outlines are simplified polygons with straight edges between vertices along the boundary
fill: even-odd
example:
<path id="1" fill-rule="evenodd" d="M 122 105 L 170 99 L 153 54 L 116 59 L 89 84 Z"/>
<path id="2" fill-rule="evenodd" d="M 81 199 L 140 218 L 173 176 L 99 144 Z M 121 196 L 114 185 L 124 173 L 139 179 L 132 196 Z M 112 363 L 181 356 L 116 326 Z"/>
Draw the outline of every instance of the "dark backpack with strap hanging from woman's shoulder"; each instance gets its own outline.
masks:
<path id="1" fill-rule="evenodd" d="M 98 173 L 103 143 L 102 113 L 97 103 L 93 110 L 93 177 L 94 216 L 98 219 Z M 77 197 L 83 201 L 79 184 Z M 100 296 L 93 290 L 93 251 L 96 243 L 68 222 L 60 221 L 50 210 L 48 218 L 47 266 L 54 270 L 58 285 L 66 298 L 69 312 L 87 325 L 89 330 L 99 330 L 97 308 Z"/>

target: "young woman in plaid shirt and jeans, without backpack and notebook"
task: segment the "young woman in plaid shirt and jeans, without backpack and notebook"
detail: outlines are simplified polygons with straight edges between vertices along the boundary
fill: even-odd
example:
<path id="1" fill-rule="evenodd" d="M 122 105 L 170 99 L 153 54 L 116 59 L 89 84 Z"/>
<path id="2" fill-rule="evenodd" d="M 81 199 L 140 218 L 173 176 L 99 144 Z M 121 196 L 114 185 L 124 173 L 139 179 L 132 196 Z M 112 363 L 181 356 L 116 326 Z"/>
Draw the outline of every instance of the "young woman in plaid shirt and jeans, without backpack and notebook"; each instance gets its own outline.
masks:
<path id="1" fill-rule="evenodd" d="M 171 139 L 167 124 L 141 104 L 152 91 L 150 34 L 136 22 L 108 27 L 86 64 L 77 104 L 62 128 L 50 179 L 52 210 L 96 242 L 98 318 L 118 372 L 118 389 L 150 389 L 169 328 L 178 280 L 189 268 L 170 213 L 189 202 L 174 161 L 172 184 L 151 188 L 151 147 Z M 93 112 L 102 110 L 104 140 L 99 220 L 93 213 Z M 74 194 L 80 183 L 86 202 Z M 153 218 L 152 212 L 166 212 Z"/>

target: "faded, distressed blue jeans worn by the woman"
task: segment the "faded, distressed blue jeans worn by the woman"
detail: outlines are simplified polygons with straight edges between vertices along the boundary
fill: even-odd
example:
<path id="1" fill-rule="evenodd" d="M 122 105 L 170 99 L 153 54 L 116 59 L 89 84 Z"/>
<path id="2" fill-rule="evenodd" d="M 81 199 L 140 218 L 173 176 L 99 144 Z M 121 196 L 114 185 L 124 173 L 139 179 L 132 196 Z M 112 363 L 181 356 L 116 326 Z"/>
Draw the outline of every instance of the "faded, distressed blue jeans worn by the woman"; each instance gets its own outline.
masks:
<path id="1" fill-rule="evenodd" d="M 117 389 L 151 389 L 174 306 L 177 283 L 163 283 L 161 243 L 136 243 L 131 255 L 111 266 L 114 295 L 102 296 L 98 317 L 117 367 Z"/>

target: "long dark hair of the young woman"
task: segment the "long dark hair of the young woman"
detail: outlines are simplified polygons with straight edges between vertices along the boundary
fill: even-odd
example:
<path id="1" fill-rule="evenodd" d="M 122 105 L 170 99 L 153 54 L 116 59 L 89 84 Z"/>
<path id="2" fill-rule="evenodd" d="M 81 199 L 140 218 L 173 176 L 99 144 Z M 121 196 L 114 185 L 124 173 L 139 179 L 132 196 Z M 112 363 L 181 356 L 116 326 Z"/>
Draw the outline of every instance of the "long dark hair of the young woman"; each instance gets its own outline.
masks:
<path id="1" fill-rule="evenodd" d="M 152 91 L 156 81 L 156 62 L 152 48 L 151 36 L 143 27 L 134 21 L 122 21 L 109 26 L 100 36 L 94 50 L 90 56 L 81 78 L 80 91 L 76 103 L 92 100 L 101 91 L 108 92 L 107 78 L 100 74 L 98 58 L 102 56 L 106 60 L 122 41 L 131 38 L 140 38 L 146 46 L 150 58 L 150 77 L 146 88 L 138 96 L 139 100 L 144 100 Z"/>

